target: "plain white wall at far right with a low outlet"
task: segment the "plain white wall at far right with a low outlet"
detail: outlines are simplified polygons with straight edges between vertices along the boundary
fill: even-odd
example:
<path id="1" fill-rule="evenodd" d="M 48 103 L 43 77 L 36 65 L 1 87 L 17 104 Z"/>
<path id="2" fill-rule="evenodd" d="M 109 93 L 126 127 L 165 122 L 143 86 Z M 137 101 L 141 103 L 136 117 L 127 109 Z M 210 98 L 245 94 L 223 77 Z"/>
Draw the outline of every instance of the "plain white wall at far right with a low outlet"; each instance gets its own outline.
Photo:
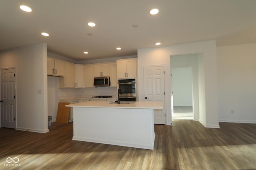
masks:
<path id="1" fill-rule="evenodd" d="M 217 66 L 220 121 L 256 123 L 256 43 L 217 47 Z"/>

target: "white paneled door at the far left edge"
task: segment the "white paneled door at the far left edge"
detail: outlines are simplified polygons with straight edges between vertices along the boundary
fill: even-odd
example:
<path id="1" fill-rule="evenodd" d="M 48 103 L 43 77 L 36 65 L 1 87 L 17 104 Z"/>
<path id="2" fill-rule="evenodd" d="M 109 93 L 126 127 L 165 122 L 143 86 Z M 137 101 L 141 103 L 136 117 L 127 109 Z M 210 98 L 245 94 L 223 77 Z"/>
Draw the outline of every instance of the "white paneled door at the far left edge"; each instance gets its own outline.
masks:
<path id="1" fill-rule="evenodd" d="M 2 70 L 1 72 L 1 125 L 15 129 L 15 69 Z"/>

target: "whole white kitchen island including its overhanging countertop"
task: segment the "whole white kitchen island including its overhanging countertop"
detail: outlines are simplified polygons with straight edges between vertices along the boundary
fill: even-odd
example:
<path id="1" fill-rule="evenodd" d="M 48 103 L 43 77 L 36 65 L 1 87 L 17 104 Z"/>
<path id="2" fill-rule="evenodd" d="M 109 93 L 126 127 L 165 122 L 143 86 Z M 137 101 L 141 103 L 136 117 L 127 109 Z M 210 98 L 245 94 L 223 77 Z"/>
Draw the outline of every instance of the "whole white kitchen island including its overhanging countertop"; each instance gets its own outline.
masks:
<path id="1" fill-rule="evenodd" d="M 154 149 L 154 109 L 162 102 L 82 102 L 73 107 L 76 141 Z"/>

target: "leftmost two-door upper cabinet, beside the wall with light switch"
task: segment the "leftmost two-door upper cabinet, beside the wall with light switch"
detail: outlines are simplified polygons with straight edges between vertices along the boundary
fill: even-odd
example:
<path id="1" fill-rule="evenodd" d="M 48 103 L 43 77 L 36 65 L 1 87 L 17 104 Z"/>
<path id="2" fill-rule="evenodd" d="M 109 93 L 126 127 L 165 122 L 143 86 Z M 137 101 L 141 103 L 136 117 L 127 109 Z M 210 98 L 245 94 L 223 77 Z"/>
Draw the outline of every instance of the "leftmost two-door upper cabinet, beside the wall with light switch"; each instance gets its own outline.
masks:
<path id="1" fill-rule="evenodd" d="M 65 76 L 65 62 L 47 58 L 47 74 L 52 76 Z"/>

